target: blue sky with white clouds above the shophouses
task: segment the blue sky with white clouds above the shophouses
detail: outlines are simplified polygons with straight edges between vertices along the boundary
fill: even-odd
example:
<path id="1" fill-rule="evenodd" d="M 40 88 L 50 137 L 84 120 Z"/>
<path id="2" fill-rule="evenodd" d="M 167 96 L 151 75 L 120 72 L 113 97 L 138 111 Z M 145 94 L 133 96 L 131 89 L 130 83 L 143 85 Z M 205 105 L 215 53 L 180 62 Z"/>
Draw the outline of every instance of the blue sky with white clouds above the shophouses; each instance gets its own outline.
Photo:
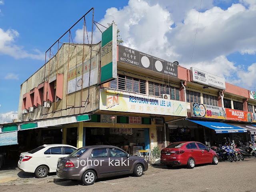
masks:
<path id="1" fill-rule="evenodd" d="M 256 86 L 255 1 L 202 0 L 201 8 L 200 2 L 0 0 L 0 122 L 16 115 L 20 85 L 44 64 L 45 51 L 92 7 L 96 22 L 116 22 L 124 46 L 254 90 L 249 87 Z M 97 42 L 100 32 L 94 28 Z M 82 23 L 72 31 L 75 42 L 81 42 L 80 29 Z"/>

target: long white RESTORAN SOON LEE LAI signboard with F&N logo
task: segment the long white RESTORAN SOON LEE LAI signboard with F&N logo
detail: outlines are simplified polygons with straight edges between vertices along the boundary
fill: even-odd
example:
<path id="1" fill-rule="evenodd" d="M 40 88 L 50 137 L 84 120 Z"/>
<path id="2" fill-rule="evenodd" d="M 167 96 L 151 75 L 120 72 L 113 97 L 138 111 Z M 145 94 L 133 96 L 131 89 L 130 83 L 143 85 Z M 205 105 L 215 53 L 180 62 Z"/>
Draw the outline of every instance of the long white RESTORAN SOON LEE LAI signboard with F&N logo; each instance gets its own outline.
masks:
<path id="1" fill-rule="evenodd" d="M 100 89 L 100 110 L 187 116 L 186 102 Z"/>

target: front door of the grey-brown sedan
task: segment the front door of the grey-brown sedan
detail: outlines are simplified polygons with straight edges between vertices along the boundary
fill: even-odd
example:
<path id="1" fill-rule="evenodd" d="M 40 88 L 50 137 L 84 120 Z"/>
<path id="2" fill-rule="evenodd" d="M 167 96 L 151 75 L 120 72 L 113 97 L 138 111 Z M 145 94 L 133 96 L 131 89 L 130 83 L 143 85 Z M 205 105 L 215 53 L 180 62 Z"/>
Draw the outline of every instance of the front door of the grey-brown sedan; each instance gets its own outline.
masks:
<path id="1" fill-rule="evenodd" d="M 126 152 L 117 148 L 108 148 L 108 150 L 110 156 L 110 166 L 112 166 L 113 172 L 125 173 L 132 169 L 133 162 L 130 162 Z"/>

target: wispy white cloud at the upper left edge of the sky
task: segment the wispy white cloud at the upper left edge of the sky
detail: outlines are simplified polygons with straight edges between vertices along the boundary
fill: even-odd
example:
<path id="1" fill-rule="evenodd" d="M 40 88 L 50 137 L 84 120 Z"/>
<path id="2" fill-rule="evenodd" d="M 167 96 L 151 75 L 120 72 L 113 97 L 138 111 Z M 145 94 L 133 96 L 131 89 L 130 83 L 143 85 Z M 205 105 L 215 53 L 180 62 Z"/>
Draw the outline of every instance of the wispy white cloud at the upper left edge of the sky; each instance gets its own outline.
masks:
<path id="1" fill-rule="evenodd" d="M 18 58 L 32 58 L 44 60 L 45 54 L 39 50 L 34 50 L 36 54 L 28 53 L 22 46 L 14 44 L 15 39 L 19 36 L 16 30 L 8 29 L 4 31 L 0 28 L 0 54 L 10 55 L 16 59 Z"/>

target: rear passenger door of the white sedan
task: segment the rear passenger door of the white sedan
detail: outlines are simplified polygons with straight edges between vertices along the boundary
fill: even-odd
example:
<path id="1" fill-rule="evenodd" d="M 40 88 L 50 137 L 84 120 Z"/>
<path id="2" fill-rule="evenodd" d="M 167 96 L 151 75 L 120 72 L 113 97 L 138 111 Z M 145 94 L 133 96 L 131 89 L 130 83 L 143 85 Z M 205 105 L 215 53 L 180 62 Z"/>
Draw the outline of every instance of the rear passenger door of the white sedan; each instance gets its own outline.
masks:
<path id="1" fill-rule="evenodd" d="M 58 158 L 64 157 L 62 154 L 62 147 L 51 147 L 48 150 L 46 150 L 43 154 L 44 159 L 46 160 L 47 164 L 49 165 L 50 169 L 53 172 L 56 171 Z"/>

